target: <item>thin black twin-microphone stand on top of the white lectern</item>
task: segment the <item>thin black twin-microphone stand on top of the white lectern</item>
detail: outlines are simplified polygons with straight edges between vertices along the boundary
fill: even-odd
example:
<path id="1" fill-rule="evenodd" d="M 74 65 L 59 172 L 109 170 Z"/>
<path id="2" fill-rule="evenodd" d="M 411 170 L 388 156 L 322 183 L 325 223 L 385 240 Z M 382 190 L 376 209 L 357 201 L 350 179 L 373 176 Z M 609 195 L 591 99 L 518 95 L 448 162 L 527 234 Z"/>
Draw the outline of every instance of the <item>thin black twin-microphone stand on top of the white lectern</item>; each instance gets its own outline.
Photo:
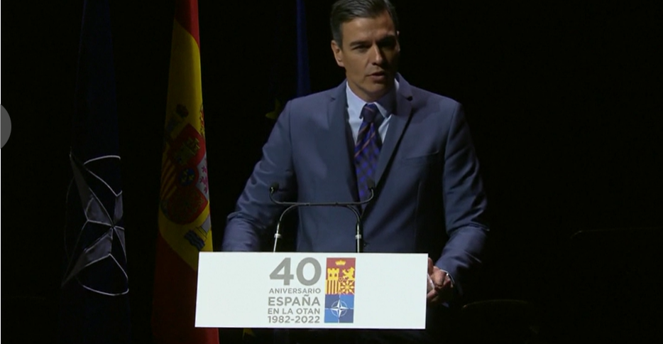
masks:
<path id="1" fill-rule="evenodd" d="M 311 202 L 281 202 L 279 200 L 276 200 L 274 198 L 274 194 L 278 192 L 280 186 L 278 183 L 272 183 L 272 185 L 269 188 L 269 198 L 270 200 L 277 204 L 277 205 L 283 205 L 287 206 L 285 210 L 283 210 L 283 213 L 281 213 L 278 222 L 276 222 L 276 232 L 274 234 L 274 249 L 273 252 L 278 251 L 278 240 L 280 240 L 283 235 L 281 235 L 281 222 L 283 221 L 283 217 L 287 213 L 290 213 L 290 210 L 293 210 L 295 208 L 299 207 L 342 207 L 346 208 L 352 211 L 354 215 L 357 217 L 357 225 L 356 225 L 356 234 L 355 234 L 355 239 L 356 239 L 356 249 L 357 253 L 361 253 L 363 251 L 363 226 L 361 223 L 361 215 L 359 212 L 356 210 L 356 206 L 361 206 L 365 205 L 367 203 L 370 203 L 371 200 L 376 195 L 376 183 L 372 180 L 368 180 L 368 190 L 371 191 L 371 195 L 366 198 L 366 200 L 361 200 L 359 202 L 319 202 L 319 203 L 311 203 Z"/>

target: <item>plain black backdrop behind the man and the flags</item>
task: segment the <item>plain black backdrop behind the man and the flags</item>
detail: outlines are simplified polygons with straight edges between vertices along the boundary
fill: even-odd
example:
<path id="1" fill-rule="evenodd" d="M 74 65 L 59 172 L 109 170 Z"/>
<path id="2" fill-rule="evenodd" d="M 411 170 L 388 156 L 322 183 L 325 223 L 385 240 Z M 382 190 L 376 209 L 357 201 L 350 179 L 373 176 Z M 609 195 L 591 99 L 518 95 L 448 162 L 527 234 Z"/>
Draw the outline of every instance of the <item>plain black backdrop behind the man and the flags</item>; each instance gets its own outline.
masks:
<path id="1" fill-rule="evenodd" d="M 9 252 L 3 338 L 45 343 L 56 329 L 82 1 L 5 2 L 2 97 L 13 133 L 2 174 Z M 270 27 L 286 2 L 294 0 L 199 4 L 217 247 L 270 127 L 267 80 L 278 56 Z M 581 289 L 569 268 L 583 267 L 597 284 L 614 283 L 606 294 L 639 296 L 630 311 L 659 315 L 659 308 L 638 305 L 653 301 L 650 282 L 660 274 L 662 11 L 634 1 L 394 2 L 402 75 L 465 105 L 481 161 L 494 240 L 475 297 L 532 301 L 549 332 L 563 333 L 558 301 Z M 329 49 L 331 3 L 306 1 L 314 91 L 343 80 Z M 170 1 L 111 1 L 136 343 L 150 343 L 172 16 Z M 279 46 L 292 40 L 284 36 Z M 644 235 L 637 230 L 650 227 Z M 608 238 L 618 245 L 570 240 L 579 230 L 604 229 L 624 229 Z M 603 269 L 574 263 L 588 257 L 608 260 L 596 259 Z M 634 285 L 628 273 L 636 270 L 645 277 Z M 233 331 L 223 335 L 236 339 Z"/>

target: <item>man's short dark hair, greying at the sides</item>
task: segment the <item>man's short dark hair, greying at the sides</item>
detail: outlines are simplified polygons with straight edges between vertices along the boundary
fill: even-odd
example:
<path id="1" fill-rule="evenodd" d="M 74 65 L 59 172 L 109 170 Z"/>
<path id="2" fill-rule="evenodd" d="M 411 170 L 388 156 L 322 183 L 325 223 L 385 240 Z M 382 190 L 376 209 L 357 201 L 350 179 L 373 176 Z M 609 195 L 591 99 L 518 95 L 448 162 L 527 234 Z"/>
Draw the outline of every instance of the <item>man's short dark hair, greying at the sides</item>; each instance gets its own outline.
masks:
<path id="1" fill-rule="evenodd" d="M 332 5 L 329 24 L 332 26 L 332 38 L 339 46 L 343 45 L 341 26 L 355 18 L 376 18 L 387 11 L 398 32 L 398 16 L 389 0 L 338 0 Z"/>

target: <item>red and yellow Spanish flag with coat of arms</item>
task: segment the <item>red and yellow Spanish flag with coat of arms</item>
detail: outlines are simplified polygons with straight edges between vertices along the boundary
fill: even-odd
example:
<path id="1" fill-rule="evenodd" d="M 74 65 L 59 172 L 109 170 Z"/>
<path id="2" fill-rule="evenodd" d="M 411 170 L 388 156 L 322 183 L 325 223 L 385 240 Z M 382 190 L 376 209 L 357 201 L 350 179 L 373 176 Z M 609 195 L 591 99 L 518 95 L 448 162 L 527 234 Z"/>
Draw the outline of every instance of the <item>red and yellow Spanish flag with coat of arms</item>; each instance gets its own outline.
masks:
<path id="1" fill-rule="evenodd" d="M 158 226 L 154 343 L 218 344 L 195 327 L 198 255 L 212 251 L 197 0 L 175 1 Z"/>

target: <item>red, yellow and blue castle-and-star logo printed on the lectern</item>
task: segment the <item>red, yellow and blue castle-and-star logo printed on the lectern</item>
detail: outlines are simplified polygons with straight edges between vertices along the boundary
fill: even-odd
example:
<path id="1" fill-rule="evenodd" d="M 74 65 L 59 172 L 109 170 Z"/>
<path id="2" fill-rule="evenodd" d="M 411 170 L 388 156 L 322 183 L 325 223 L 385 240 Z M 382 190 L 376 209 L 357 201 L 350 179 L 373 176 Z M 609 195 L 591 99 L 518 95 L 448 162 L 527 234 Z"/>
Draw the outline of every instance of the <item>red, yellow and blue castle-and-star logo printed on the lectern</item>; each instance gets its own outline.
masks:
<path id="1" fill-rule="evenodd" d="M 354 323 L 356 259 L 328 258 L 324 323 Z"/>

